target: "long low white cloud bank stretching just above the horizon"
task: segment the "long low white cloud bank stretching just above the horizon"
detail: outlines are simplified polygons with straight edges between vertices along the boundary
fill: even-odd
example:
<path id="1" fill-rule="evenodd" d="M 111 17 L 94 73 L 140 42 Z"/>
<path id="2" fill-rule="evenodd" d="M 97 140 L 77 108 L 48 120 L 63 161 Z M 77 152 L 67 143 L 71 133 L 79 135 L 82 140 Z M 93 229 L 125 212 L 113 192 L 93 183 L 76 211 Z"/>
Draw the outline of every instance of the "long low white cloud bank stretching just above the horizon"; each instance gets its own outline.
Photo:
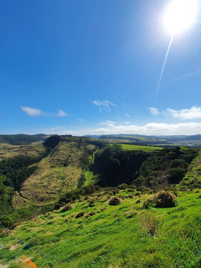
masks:
<path id="1" fill-rule="evenodd" d="M 108 120 L 109 121 L 109 120 Z M 113 122 L 113 121 L 112 121 Z M 102 122 L 102 123 L 106 123 Z M 51 131 L 51 129 L 49 130 Z M 105 128 L 85 128 L 81 130 L 62 130 L 62 131 L 46 131 L 49 134 L 71 134 L 75 136 L 83 136 L 85 134 L 143 134 L 143 135 L 195 135 L 201 132 L 201 123 L 189 122 L 179 124 L 166 124 L 166 123 L 149 123 L 144 126 L 137 125 L 117 125 L 111 123 Z"/>

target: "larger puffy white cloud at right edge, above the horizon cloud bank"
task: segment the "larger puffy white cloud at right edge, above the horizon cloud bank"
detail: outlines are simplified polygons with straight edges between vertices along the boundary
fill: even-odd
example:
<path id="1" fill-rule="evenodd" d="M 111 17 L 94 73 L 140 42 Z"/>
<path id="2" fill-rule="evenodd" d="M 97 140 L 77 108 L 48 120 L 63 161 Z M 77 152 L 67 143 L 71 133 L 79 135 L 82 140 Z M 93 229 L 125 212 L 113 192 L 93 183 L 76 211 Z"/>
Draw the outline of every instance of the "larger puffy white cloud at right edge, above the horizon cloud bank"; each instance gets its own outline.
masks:
<path id="1" fill-rule="evenodd" d="M 181 120 L 191 120 L 201 118 L 201 107 L 193 106 L 190 109 L 173 110 L 170 108 L 164 112 L 166 116 L 179 118 Z"/>

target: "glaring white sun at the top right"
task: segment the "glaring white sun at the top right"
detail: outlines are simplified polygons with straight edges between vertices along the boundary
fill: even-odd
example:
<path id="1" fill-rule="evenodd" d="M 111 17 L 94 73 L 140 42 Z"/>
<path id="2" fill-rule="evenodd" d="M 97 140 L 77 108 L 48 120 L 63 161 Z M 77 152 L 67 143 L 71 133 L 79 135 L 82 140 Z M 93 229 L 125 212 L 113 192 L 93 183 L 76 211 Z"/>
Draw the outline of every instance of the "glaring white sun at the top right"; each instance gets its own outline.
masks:
<path id="1" fill-rule="evenodd" d="M 173 0 L 167 6 L 164 23 L 172 33 L 184 31 L 195 21 L 198 13 L 198 0 Z"/>

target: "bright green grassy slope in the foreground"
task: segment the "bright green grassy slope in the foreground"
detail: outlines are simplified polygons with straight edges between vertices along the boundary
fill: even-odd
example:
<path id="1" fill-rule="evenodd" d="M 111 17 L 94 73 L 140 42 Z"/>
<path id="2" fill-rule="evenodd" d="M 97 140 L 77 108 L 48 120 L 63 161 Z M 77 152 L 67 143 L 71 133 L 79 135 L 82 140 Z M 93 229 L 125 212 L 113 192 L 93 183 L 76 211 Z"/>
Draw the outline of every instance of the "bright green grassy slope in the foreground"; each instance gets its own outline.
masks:
<path id="1" fill-rule="evenodd" d="M 25 267 L 19 262 L 22 255 L 38 267 L 199 267 L 200 196 L 195 191 L 180 192 L 177 207 L 149 209 L 165 219 L 162 235 L 156 238 L 147 236 L 139 224 L 147 195 L 125 198 L 117 206 L 108 205 L 107 194 L 96 194 L 92 207 L 83 198 L 70 211 L 36 217 L 1 238 L 5 248 L 0 258 L 13 268 Z M 95 215 L 76 218 L 80 211 Z M 10 251 L 11 245 L 19 247 Z"/>

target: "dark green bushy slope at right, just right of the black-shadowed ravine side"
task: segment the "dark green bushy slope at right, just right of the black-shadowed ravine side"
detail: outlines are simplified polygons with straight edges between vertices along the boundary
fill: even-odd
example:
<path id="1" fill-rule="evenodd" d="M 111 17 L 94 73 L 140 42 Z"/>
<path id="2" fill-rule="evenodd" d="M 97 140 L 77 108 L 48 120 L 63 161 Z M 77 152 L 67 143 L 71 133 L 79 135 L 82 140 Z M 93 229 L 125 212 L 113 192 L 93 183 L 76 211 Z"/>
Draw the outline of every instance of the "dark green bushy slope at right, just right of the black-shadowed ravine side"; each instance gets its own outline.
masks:
<path id="1" fill-rule="evenodd" d="M 159 185 L 179 183 L 198 153 L 199 149 L 194 148 L 164 148 L 142 163 L 134 175 L 133 183 L 138 188 L 146 186 L 152 189 Z"/>

